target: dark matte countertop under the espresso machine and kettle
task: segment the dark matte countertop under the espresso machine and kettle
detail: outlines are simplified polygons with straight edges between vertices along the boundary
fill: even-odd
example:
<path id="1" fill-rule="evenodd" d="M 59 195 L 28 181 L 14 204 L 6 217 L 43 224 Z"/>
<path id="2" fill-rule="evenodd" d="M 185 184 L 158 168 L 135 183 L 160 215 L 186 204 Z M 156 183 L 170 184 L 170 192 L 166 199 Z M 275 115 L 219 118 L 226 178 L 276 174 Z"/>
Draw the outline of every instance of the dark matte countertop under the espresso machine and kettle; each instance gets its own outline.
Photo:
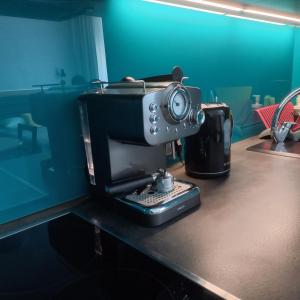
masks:
<path id="1" fill-rule="evenodd" d="M 300 298 L 300 163 L 232 147 L 226 179 L 195 180 L 202 206 L 145 228 L 93 201 L 76 214 L 226 299 Z M 187 178 L 182 168 L 173 171 Z M 234 296 L 232 296 L 234 295 Z"/>

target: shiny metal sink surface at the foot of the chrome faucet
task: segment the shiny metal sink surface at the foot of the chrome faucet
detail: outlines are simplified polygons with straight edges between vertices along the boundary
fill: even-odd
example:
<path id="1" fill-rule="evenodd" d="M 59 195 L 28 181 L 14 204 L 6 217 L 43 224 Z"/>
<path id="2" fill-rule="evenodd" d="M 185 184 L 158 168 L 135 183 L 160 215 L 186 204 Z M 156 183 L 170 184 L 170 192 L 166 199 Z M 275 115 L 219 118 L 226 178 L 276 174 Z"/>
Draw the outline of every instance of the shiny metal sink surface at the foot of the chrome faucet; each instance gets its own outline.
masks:
<path id="1" fill-rule="evenodd" d="M 273 140 L 267 140 L 251 146 L 247 150 L 300 159 L 300 142 L 287 141 L 277 144 Z"/>

